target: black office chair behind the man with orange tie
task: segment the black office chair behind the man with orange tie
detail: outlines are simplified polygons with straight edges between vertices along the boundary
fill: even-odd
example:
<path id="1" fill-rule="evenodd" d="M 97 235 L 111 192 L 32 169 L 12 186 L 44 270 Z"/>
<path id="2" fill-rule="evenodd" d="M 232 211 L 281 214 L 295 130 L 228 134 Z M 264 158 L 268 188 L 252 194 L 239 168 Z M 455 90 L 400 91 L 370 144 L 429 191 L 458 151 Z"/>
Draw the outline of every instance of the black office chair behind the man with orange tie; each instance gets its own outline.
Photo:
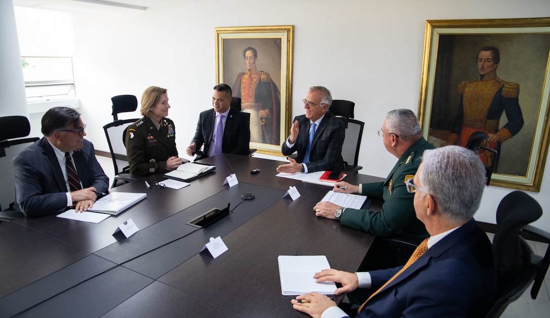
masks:
<path id="1" fill-rule="evenodd" d="M 544 256 L 538 256 L 520 235 L 531 233 L 550 242 L 550 233 L 527 225 L 541 215 L 541 206 L 524 192 L 513 191 L 500 201 L 498 228 L 493 238 L 493 254 L 499 267 L 498 297 L 487 318 L 500 317 L 508 304 L 518 299 L 533 281 L 531 298 L 537 298 L 550 265 L 550 246 Z"/>

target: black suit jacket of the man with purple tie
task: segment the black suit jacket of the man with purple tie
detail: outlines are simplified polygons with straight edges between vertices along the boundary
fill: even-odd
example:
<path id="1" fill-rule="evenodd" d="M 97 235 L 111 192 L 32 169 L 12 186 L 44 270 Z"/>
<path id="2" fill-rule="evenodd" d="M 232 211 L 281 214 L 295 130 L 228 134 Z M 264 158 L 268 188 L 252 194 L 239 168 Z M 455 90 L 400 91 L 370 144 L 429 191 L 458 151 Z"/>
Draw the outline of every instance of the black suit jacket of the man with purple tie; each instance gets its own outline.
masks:
<path id="1" fill-rule="evenodd" d="M 203 157 L 206 157 L 212 135 L 214 134 L 214 123 L 216 119 L 216 111 L 211 108 L 200 113 L 199 122 L 197 122 L 197 130 L 195 136 L 191 140 L 196 143 L 196 150 L 201 149 L 204 144 Z M 230 107 L 226 118 L 226 127 L 223 129 L 222 152 L 234 153 L 235 155 L 248 155 L 250 150 L 250 119 L 249 117 L 239 112 L 237 109 Z M 198 159 L 198 156 L 197 156 Z"/>

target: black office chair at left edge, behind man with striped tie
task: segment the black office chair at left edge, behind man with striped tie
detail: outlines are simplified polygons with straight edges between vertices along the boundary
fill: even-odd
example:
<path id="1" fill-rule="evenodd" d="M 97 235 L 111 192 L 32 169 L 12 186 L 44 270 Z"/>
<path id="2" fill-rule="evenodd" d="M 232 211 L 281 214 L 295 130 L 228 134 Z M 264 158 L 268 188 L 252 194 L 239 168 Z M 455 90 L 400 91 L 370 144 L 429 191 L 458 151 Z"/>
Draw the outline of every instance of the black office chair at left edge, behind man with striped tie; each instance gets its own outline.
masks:
<path id="1" fill-rule="evenodd" d="M 14 139 L 26 137 L 30 134 L 31 125 L 29 119 L 24 116 L 0 117 L 0 222 L 13 221 L 24 218 L 20 211 L 14 211 L 15 207 L 15 176 L 13 171 L 13 158 L 25 150 L 38 137 Z M 8 140 L 12 139 L 12 140 Z"/>

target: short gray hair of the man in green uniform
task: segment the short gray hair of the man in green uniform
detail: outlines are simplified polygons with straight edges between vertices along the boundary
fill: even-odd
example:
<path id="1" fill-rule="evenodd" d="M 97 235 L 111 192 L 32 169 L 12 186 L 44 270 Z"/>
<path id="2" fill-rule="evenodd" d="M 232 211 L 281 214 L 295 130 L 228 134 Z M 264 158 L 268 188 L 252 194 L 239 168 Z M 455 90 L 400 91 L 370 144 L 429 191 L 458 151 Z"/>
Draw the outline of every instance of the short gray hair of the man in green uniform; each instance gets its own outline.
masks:
<path id="1" fill-rule="evenodd" d="M 394 109 L 386 114 L 386 119 L 385 129 L 388 134 L 398 135 L 405 141 L 416 141 L 422 135 L 418 118 L 410 109 Z"/>

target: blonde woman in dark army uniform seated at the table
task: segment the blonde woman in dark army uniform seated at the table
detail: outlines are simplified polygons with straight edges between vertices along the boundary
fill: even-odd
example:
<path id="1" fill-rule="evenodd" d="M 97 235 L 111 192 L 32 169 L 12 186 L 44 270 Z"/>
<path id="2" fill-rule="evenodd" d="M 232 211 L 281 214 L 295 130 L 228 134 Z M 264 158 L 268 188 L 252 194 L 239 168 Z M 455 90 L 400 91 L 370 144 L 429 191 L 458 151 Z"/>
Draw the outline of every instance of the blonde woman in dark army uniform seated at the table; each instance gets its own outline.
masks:
<path id="1" fill-rule="evenodd" d="M 128 127 L 126 151 L 130 173 L 150 176 L 182 165 L 175 147 L 175 127 L 168 116 L 167 90 L 150 86 L 141 96 L 144 116 Z"/>

